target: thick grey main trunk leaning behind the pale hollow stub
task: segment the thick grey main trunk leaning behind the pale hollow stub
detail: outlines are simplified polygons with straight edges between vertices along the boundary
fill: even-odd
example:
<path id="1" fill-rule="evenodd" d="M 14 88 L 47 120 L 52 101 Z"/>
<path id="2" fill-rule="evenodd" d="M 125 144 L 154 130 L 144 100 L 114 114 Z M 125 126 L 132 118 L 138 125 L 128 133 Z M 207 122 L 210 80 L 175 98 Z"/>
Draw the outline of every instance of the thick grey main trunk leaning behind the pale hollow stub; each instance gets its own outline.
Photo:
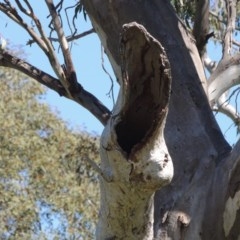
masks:
<path id="1" fill-rule="evenodd" d="M 172 93 L 165 139 L 174 177 L 170 185 L 155 194 L 154 237 L 232 239 L 232 231 L 239 236 L 238 208 L 234 210 L 236 221 L 229 223 L 226 217 L 230 212 L 227 201 L 236 202 L 240 188 L 236 184 L 229 197 L 229 176 L 237 176 L 234 171 L 239 162 L 233 153 L 239 153 L 239 146 L 231 153 L 215 122 L 202 88 L 205 76 L 193 37 L 179 22 L 169 1 L 83 2 L 118 79 L 119 34 L 126 23 L 142 24 L 162 44 L 170 61 Z"/>

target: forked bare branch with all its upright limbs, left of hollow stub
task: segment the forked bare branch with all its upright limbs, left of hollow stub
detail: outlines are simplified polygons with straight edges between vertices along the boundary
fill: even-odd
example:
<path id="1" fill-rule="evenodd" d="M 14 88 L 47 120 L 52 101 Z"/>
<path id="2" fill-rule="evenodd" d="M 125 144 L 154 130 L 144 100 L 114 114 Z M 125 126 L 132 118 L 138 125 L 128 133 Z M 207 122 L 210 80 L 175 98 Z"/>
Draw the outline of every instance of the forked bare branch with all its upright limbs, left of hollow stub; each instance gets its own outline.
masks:
<path id="1" fill-rule="evenodd" d="M 58 41 L 62 49 L 62 54 L 65 62 L 63 65 L 59 63 L 52 46 L 51 39 L 44 32 L 43 26 L 36 16 L 29 1 L 24 0 L 25 4 L 19 0 L 15 0 L 15 2 L 17 8 L 14 7 L 10 1 L 4 0 L 0 3 L 0 11 L 6 14 L 10 19 L 12 19 L 15 23 L 20 25 L 24 30 L 28 32 L 32 38 L 30 41 L 35 42 L 47 56 L 57 78 L 49 75 L 44 71 L 41 71 L 37 67 L 23 61 L 22 59 L 13 56 L 3 49 L 0 51 L 0 66 L 17 69 L 27 74 L 29 77 L 34 78 L 48 88 L 56 91 L 61 96 L 65 96 L 69 99 L 74 100 L 89 110 L 97 119 L 100 120 L 103 125 L 106 125 L 111 115 L 110 111 L 95 96 L 85 91 L 77 81 L 76 71 L 74 69 L 67 42 L 68 40 L 73 40 L 77 36 L 74 36 L 71 39 L 67 39 L 64 35 L 59 16 L 56 12 L 56 8 L 59 6 L 59 4 L 55 7 L 53 1 L 46 0 L 46 4 L 49 8 L 50 16 L 52 17 L 52 22 L 54 24 L 54 31 L 56 31 L 58 35 Z M 63 1 L 60 3 L 62 2 Z M 30 18 L 30 20 L 36 25 L 37 29 L 33 29 L 32 26 L 28 25 L 27 22 L 23 20 L 21 15 Z M 90 32 L 93 32 L 93 30 Z"/>

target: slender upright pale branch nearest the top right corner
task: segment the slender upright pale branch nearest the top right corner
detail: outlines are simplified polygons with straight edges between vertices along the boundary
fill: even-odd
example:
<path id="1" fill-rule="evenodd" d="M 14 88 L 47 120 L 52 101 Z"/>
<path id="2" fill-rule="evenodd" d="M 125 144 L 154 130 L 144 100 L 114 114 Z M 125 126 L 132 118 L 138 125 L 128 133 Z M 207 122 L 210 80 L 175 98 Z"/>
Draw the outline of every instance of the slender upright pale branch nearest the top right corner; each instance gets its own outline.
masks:
<path id="1" fill-rule="evenodd" d="M 236 21 L 236 0 L 225 0 L 227 9 L 227 27 L 223 42 L 223 59 L 231 54 L 233 44 L 233 32 L 235 30 Z"/>

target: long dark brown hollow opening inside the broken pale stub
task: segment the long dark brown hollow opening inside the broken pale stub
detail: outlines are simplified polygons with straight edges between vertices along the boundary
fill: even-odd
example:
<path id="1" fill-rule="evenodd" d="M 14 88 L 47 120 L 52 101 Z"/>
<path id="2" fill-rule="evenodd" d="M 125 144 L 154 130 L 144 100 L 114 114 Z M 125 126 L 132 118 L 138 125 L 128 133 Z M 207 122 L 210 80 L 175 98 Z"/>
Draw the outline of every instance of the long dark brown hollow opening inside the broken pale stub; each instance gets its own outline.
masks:
<path id="1" fill-rule="evenodd" d="M 119 146 L 129 155 L 148 139 L 166 115 L 171 76 L 164 49 L 143 26 L 126 24 L 121 36 L 120 97 L 124 101 L 115 131 Z"/>

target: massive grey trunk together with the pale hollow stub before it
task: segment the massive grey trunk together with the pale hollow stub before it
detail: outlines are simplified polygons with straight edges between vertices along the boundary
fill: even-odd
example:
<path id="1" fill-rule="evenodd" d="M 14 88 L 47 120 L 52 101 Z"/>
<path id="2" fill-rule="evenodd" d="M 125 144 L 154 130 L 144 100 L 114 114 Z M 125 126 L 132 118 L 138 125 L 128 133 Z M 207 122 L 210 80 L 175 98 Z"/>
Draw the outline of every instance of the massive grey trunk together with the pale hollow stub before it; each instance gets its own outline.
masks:
<path id="1" fill-rule="evenodd" d="M 240 143 L 231 152 L 215 122 L 194 38 L 166 0 L 83 3 L 121 85 L 101 140 L 106 177 L 101 179 L 97 238 L 238 239 Z M 129 26 L 143 28 L 131 22 L 144 26 L 145 37 L 139 38 L 141 31 Z M 156 52 L 161 55 L 159 66 Z M 170 81 L 167 59 L 172 89 L 163 134 L 168 106 L 164 93 L 169 91 L 163 83 Z M 153 72 L 159 81 L 150 76 Z M 159 93 L 156 84 L 161 85 Z M 163 188 L 171 179 L 170 156 L 174 176 Z"/>

